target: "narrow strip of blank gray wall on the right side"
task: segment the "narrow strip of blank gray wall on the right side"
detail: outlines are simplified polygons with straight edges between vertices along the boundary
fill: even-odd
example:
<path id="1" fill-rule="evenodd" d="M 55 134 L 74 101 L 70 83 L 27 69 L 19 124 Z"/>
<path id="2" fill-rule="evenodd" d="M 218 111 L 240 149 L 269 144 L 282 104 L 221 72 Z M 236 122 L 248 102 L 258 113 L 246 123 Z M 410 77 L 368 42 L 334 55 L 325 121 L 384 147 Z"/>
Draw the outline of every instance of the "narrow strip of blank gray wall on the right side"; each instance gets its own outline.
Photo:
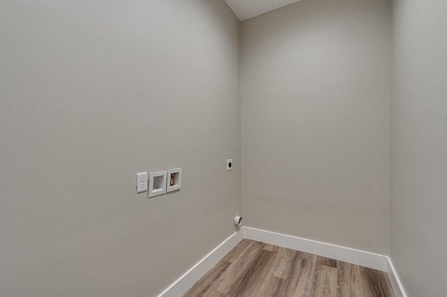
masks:
<path id="1" fill-rule="evenodd" d="M 393 1 L 391 259 L 409 296 L 446 296 L 447 2 Z"/>

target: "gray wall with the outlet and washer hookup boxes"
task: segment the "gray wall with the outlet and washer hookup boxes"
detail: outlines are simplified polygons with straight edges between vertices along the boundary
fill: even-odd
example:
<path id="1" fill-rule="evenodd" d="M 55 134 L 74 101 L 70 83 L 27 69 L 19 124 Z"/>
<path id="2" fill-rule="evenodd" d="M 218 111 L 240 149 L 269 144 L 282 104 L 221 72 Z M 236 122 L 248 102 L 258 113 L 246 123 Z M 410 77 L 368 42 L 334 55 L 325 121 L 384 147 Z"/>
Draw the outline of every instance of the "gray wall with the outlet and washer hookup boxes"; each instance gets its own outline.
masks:
<path id="1" fill-rule="evenodd" d="M 1 296 L 156 296 L 233 234 L 238 31 L 220 0 L 1 1 Z"/>

